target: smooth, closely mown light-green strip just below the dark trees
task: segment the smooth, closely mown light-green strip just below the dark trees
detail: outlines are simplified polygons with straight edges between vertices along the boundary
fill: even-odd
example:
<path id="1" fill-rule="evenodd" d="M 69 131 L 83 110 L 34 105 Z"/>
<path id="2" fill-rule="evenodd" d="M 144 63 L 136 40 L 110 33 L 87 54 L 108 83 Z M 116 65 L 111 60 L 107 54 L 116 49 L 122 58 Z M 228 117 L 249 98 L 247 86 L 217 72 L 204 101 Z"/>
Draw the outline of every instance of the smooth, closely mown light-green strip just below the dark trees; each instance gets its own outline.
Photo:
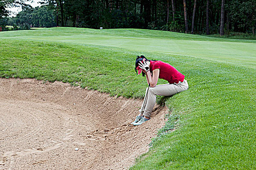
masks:
<path id="1" fill-rule="evenodd" d="M 75 32 L 70 32 L 69 28 L 18 31 L 0 34 L 0 37 L 92 44 L 132 51 L 188 55 L 256 68 L 256 40 L 223 40 L 198 35 L 135 29 L 118 29 L 117 31 L 75 29 Z"/>

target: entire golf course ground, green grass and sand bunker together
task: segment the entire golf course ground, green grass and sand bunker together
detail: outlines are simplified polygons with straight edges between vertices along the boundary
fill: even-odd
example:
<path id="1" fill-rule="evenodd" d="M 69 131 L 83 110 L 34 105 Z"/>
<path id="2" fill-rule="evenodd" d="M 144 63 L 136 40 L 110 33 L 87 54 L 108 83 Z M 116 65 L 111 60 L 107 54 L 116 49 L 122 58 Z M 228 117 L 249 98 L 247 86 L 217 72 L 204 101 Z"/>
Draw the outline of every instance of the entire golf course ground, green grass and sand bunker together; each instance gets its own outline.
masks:
<path id="1" fill-rule="evenodd" d="M 171 64 L 189 89 L 158 97 L 152 118 L 135 127 L 148 86 L 134 69 L 138 55 Z M 0 32 L 0 91 L 0 170 L 256 169 L 256 40 L 146 29 Z M 41 131 L 47 122 L 63 131 Z"/>

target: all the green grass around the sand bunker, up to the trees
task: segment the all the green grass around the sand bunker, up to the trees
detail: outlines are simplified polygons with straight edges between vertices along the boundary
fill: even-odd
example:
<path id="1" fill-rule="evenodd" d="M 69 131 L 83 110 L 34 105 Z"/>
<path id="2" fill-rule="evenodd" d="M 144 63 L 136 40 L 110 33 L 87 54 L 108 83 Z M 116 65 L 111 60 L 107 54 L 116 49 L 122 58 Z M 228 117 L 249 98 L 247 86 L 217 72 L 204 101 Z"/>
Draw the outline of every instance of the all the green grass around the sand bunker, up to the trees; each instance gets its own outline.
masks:
<path id="1" fill-rule="evenodd" d="M 162 51 L 161 44 L 173 48 Z M 0 77 L 63 81 L 127 98 L 143 98 L 147 87 L 134 71 L 136 55 L 168 62 L 186 75 L 189 90 L 158 98 L 172 111 L 169 122 L 131 170 L 256 169 L 256 41 L 55 28 L 1 33 L 0 52 Z"/>

